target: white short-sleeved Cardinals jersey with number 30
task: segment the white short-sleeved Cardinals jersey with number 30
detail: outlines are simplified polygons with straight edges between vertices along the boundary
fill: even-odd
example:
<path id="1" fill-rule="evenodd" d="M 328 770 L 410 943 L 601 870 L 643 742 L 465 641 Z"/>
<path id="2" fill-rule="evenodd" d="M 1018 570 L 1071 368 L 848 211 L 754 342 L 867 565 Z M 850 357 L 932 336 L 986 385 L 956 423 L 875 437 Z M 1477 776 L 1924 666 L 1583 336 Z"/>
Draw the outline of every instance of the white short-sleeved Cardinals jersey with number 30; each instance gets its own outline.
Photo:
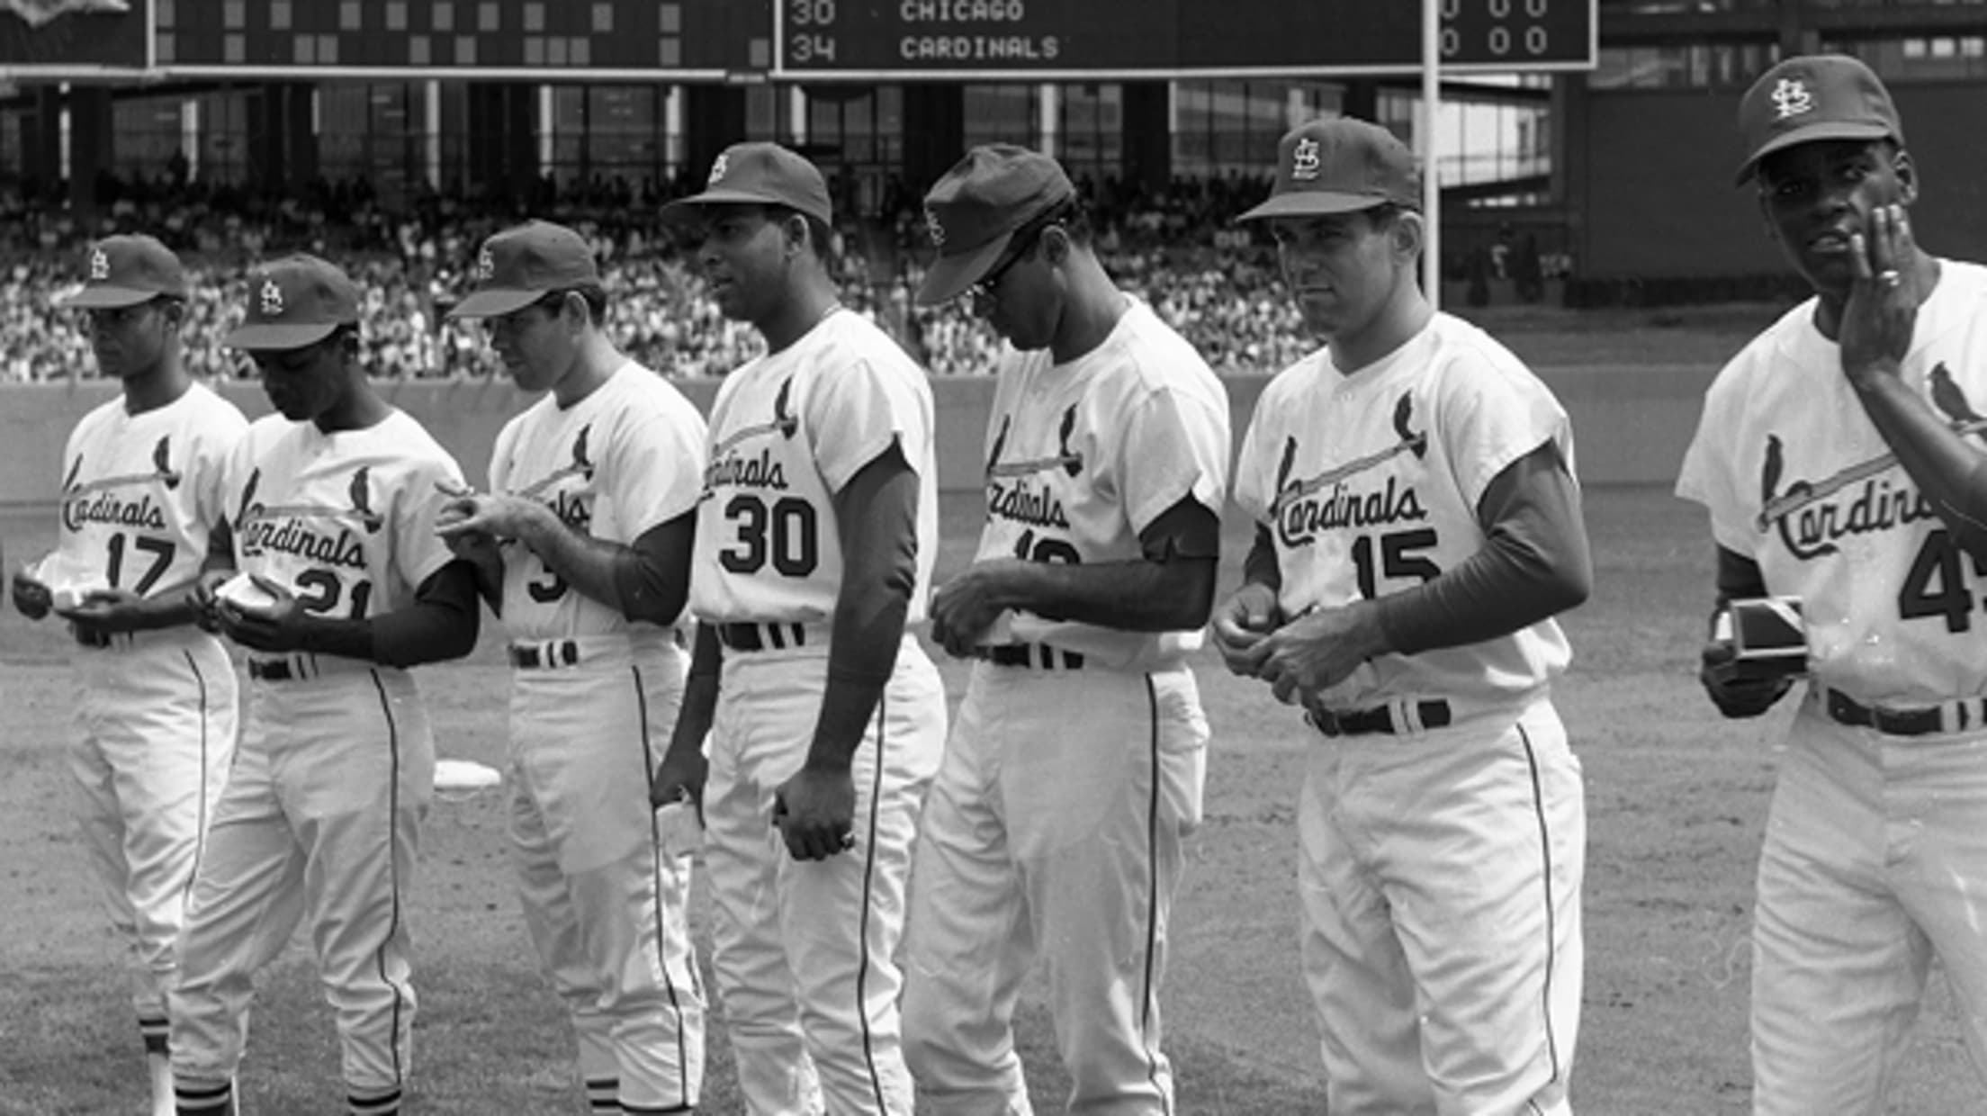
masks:
<path id="1" fill-rule="evenodd" d="M 837 310 L 725 377 L 711 403 L 689 610 L 705 622 L 821 624 L 842 588 L 835 494 L 896 443 L 918 475 L 924 620 L 938 554 L 932 387 L 868 318 Z"/>

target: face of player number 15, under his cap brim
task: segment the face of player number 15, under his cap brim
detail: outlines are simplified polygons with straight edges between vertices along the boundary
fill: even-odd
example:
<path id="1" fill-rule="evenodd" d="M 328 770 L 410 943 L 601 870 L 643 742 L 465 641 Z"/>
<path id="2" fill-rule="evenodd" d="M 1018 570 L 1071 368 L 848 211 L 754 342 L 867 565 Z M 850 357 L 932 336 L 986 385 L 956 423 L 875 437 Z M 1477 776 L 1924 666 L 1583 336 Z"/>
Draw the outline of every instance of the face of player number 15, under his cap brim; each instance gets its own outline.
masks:
<path id="1" fill-rule="evenodd" d="M 1270 236 L 1303 324 L 1321 338 L 1357 334 L 1393 296 L 1403 252 L 1393 224 L 1367 210 L 1276 216 Z"/>

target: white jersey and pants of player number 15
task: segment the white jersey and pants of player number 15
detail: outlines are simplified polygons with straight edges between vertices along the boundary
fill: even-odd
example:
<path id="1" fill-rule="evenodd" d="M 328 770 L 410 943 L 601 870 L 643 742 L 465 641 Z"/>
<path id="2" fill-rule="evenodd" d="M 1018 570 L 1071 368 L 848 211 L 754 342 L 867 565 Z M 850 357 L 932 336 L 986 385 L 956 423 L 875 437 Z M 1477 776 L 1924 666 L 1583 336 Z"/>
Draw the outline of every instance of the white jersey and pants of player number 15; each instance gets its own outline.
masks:
<path id="1" fill-rule="evenodd" d="M 1264 389 L 1236 502 L 1276 538 L 1284 616 L 1419 586 L 1484 546 L 1476 506 L 1572 429 L 1518 357 L 1437 314 L 1341 373 Z M 1580 763 L 1548 699 L 1552 620 L 1387 653 L 1321 695 L 1387 731 L 1315 741 L 1298 804 L 1303 969 L 1333 1116 L 1568 1112 L 1580 1021 Z"/>

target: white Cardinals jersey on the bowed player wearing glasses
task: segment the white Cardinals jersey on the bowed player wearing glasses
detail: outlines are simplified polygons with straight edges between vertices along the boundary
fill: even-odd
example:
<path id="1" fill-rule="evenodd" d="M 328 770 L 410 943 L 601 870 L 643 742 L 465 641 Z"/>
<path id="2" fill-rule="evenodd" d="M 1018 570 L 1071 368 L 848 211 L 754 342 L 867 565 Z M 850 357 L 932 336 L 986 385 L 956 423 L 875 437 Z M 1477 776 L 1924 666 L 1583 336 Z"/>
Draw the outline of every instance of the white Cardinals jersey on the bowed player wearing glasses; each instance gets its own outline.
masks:
<path id="1" fill-rule="evenodd" d="M 1228 393 L 1170 326 L 1129 306 L 1101 346 L 1069 363 L 1007 349 L 986 439 L 986 526 L 978 558 L 1133 562 L 1139 532 L 1192 498 L 1228 498 Z M 1154 669 L 1200 645 L 1202 629 L 1125 631 L 1015 614 L 1011 633 Z"/>

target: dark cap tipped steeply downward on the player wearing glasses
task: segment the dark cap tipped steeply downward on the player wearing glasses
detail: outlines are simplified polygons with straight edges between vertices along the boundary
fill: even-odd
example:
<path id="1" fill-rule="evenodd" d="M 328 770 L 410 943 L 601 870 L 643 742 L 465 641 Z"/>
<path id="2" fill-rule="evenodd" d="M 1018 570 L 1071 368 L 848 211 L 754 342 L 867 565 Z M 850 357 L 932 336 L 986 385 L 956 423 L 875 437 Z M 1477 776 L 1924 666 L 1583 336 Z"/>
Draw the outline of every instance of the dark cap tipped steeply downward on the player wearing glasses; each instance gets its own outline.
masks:
<path id="1" fill-rule="evenodd" d="M 924 195 L 924 228 L 938 246 L 918 284 L 918 304 L 936 306 L 980 282 L 1013 234 L 1077 197 L 1061 163 L 1011 143 L 984 143 Z"/>

